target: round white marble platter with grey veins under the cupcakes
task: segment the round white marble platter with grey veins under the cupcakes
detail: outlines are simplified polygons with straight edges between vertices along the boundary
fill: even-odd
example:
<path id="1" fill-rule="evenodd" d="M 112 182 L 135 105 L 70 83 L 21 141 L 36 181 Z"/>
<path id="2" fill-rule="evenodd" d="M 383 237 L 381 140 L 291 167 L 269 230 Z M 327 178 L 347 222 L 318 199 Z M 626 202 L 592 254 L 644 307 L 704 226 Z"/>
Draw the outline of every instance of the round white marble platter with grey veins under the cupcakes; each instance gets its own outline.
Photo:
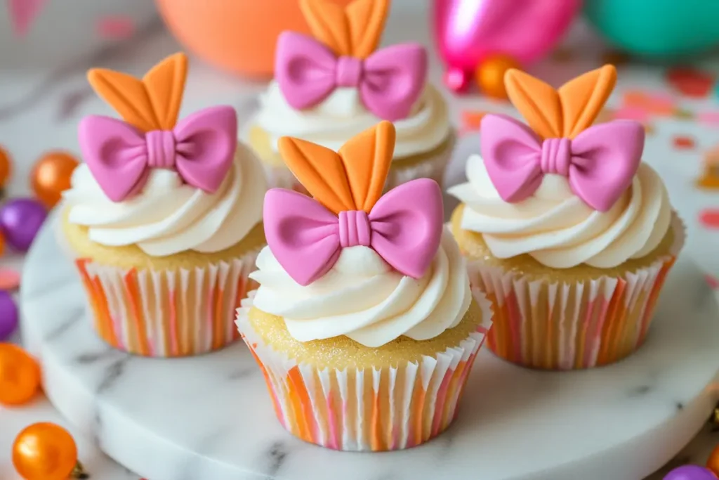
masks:
<path id="1" fill-rule="evenodd" d="M 47 397 L 118 463 L 151 480 L 638 480 L 700 430 L 718 399 L 719 308 L 680 258 L 646 344 L 595 371 L 529 371 L 482 351 L 459 419 L 429 444 L 340 453 L 275 420 L 244 345 L 208 356 L 127 356 L 93 334 L 56 216 L 27 257 L 24 342 Z"/>

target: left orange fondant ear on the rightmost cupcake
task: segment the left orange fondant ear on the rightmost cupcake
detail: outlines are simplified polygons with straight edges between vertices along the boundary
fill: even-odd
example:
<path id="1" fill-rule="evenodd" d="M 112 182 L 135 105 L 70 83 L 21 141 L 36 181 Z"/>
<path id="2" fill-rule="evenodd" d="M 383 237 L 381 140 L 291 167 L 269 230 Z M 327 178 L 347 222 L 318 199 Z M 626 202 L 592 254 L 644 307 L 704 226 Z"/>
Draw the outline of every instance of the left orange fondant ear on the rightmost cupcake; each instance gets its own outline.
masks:
<path id="1" fill-rule="evenodd" d="M 562 137 L 562 102 L 551 85 L 515 68 L 505 73 L 504 84 L 510 101 L 537 135 Z"/>

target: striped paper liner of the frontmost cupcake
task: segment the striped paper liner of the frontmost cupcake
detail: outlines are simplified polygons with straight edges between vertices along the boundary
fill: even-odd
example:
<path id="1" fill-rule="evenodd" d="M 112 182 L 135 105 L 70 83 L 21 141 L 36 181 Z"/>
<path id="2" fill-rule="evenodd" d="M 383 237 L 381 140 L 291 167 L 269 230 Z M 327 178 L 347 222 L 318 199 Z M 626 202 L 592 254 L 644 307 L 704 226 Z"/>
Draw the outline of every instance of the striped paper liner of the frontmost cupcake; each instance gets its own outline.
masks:
<path id="1" fill-rule="evenodd" d="M 237 310 L 237 326 L 265 376 L 275 415 L 298 438 L 334 450 L 401 450 L 444 431 L 457 415 L 489 325 L 418 363 L 318 368 L 263 342 L 247 317 L 254 295 L 250 292 Z M 480 307 L 487 321 L 492 313 L 489 302 L 483 299 Z"/>

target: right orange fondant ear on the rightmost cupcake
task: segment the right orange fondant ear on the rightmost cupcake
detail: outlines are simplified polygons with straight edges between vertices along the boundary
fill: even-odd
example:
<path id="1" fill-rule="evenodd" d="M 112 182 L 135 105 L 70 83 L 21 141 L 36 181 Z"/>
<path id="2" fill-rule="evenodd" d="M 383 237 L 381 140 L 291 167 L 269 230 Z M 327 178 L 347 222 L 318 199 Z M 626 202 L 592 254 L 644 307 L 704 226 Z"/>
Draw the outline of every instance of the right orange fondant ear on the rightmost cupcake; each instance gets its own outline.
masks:
<path id="1" fill-rule="evenodd" d="M 602 111 L 617 81 L 613 65 L 604 65 L 578 76 L 559 88 L 564 137 L 574 138 L 589 128 Z"/>

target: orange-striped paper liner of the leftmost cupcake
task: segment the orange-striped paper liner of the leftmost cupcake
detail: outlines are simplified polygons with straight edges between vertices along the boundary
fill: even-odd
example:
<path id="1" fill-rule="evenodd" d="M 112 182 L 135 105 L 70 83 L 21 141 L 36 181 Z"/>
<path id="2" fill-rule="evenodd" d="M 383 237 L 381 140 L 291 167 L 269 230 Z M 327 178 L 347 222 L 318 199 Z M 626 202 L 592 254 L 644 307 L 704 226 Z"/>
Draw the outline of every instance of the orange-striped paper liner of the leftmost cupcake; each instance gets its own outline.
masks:
<path id="1" fill-rule="evenodd" d="M 93 327 L 106 343 L 150 357 L 208 353 L 238 340 L 235 310 L 257 252 L 204 268 L 138 271 L 78 258 Z"/>

